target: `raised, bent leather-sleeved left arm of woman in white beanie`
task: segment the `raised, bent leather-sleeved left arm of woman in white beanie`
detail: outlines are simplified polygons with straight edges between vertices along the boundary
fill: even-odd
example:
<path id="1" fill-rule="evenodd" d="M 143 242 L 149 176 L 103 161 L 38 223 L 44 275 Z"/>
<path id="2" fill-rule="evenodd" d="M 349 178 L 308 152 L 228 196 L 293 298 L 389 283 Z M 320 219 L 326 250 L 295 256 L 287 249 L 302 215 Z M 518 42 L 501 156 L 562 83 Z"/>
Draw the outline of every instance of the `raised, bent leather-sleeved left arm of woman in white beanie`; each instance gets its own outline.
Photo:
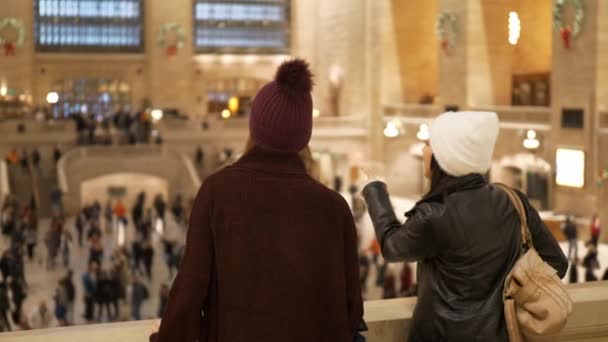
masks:
<path id="1" fill-rule="evenodd" d="M 401 224 L 389 199 L 386 184 L 376 181 L 363 189 L 370 217 L 384 259 L 389 262 L 418 261 L 435 255 L 429 220 L 432 206 L 418 205 L 405 224 Z"/>

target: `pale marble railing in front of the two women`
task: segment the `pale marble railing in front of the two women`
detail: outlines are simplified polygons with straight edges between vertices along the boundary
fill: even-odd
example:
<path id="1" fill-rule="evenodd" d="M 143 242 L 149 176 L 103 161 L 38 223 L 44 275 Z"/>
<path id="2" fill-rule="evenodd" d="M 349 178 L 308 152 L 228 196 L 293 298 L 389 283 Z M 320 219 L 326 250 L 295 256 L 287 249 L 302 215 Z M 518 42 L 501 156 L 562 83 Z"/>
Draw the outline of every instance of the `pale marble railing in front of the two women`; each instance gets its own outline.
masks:
<path id="1" fill-rule="evenodd" d="M 569 287 L 574 312 L 559 336 L 550 341 L 608 341 L 608 283 L 595 282 Z M 369 342 L 407 341 L 415 298 L 365 303 Z M 154 321 L 77 326 L 0 334 L 2 342 L 144 342 Z"/>

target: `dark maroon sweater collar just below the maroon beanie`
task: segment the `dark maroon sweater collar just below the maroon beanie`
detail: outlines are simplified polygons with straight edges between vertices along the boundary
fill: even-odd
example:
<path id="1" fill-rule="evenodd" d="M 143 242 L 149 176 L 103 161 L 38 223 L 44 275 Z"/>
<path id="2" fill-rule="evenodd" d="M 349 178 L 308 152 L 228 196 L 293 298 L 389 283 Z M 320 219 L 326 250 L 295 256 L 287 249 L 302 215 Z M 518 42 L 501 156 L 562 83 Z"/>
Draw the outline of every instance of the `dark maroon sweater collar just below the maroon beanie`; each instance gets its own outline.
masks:
<path id="1" fill-rule="evenodd" d="M 280 152 L 255 146 L 245 153 L 235 167 L 275 173 L 306 174 L 306 167 L 295 152 Z"/>

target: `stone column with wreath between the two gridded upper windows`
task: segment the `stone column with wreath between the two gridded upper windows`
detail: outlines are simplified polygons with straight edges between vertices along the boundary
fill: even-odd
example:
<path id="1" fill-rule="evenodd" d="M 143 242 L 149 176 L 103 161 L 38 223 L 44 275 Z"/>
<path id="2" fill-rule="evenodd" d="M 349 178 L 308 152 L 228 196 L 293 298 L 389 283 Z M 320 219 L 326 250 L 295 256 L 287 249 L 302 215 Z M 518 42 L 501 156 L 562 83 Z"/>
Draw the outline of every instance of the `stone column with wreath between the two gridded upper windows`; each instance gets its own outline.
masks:
<path id="1" fill-rule="evenodd" d="M 193 7 L 176 6 L 174 2 L 163 0 L 146 1 L 146 57 L 148 61 L 147 77 L 149 83 L 149 100 L 160 108 L 178 108 L 191 117 L 197 116 L 200 110 L 196 106 L 196 97 L 204 89 L 192 89 L 193 75 Z M 167 56 L 166 48 L 158 45 L 158 34 L 165 23 L 175 22 L 183 26 L 186 33 L 184 47 L 174 56 Z"/>

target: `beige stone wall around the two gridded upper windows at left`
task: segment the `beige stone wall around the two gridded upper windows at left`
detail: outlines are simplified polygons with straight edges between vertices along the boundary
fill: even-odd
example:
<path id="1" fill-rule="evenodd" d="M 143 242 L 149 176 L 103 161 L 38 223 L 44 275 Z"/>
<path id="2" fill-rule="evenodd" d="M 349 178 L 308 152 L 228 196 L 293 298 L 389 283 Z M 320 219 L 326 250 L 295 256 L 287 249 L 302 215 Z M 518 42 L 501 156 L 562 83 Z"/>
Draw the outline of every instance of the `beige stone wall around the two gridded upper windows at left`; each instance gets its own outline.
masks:
<path id="1" fill-rule="evenodd" d="M 18 56 L 0 58 L 0 81 L 10 88 L 32 92 L 34 102 L 45 104 L 46 94 L 58 80 L 76 77 L 126 79 L 133 89 L 133 105 L 150 99 L 160 108 L 178 108 L 192 117 L 206 115 L 207 81 L 217 78 L 253 77 L 271 80 L 282 56 L 258 60 L 235 56 L 197 57 L 193 51 L 193 17 L 190 2 L 146 0 L 145 52 L 142 54 L 36 54 L 32 40 L 33 0 L 6 0 L 0 17 L 17 17 L 28 35 Z M 323 114 L 328 106 L 328 74 L 332 66 L 344 70 L 341 115 L 364 115 L 365 35 L 363 0 L 294 0 L 292 2 L 292 55 L 311 62 L 316 75 L 315 106 Z M 168 57 L 157 44 L 160 26 L 183 25 L 186 46 Z"/>

